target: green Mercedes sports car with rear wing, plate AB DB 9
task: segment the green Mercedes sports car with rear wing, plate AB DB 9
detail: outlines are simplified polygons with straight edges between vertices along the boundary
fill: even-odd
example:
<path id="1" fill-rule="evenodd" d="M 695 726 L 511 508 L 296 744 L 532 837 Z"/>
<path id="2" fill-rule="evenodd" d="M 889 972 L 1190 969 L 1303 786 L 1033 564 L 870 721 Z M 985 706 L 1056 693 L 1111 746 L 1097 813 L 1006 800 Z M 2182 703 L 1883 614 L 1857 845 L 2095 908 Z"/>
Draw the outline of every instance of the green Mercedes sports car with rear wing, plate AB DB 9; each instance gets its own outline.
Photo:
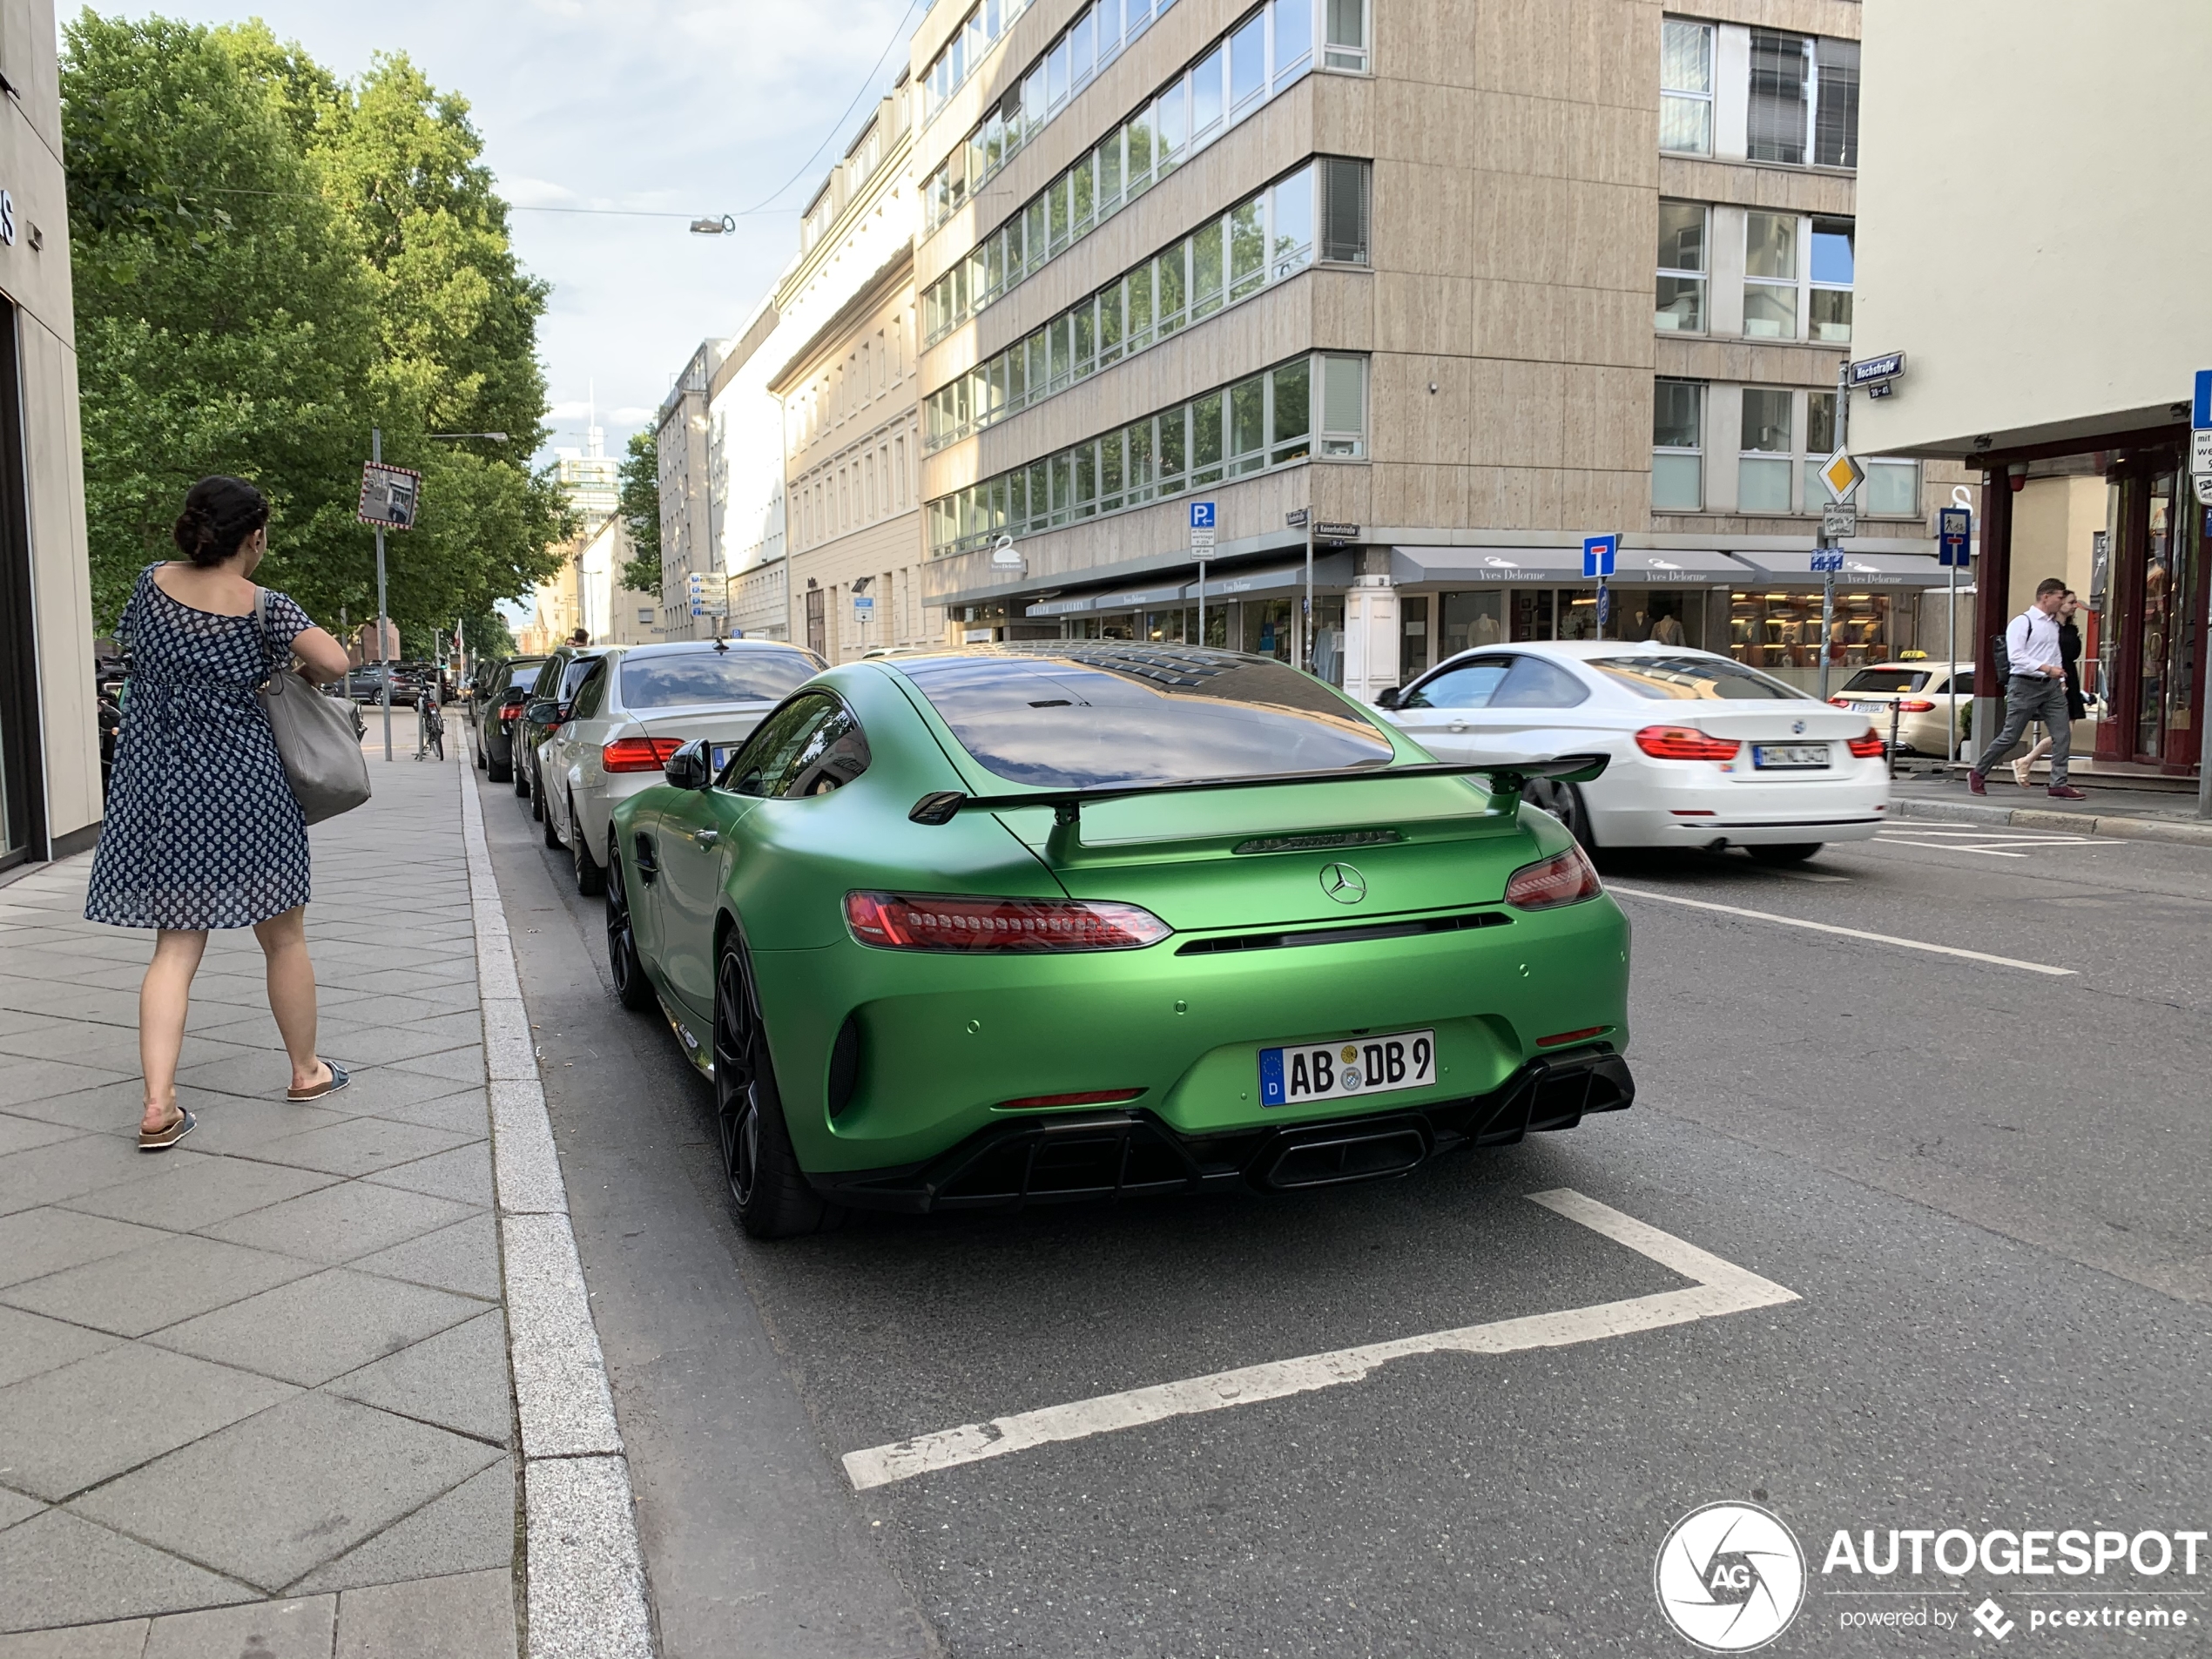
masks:
<path id="1" fill-rule="evenodd" d="M 1635 1097 L 1628 922 L 1531 776 L 1272 657 L 832 668 L 619 803 L 615 989 L 714 1079 L 739 1219 L 1400 1175 Z"/>

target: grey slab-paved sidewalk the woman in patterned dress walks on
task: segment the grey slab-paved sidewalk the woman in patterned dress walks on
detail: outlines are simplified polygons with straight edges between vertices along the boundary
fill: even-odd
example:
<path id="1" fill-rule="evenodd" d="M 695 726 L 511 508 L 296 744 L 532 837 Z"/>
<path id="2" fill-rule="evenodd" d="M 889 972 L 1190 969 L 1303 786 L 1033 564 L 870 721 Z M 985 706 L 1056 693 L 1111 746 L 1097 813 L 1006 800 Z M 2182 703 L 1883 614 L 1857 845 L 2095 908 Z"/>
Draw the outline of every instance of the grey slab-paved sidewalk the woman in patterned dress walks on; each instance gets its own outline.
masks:
<path id="1" fill-rule="evenodd" d="M 0 1659 L 515 1652 L 462 765 L 378 752 L 376 799 L 314 830 L 321 1046 L 352 1088 L 283 1102 L 261 953 L 215 933 L 199 1128 L 159 1157 L 153 938 L 82 920 L 91 856 L 0 887 L 0 1632 L 29 1632 Z"/>

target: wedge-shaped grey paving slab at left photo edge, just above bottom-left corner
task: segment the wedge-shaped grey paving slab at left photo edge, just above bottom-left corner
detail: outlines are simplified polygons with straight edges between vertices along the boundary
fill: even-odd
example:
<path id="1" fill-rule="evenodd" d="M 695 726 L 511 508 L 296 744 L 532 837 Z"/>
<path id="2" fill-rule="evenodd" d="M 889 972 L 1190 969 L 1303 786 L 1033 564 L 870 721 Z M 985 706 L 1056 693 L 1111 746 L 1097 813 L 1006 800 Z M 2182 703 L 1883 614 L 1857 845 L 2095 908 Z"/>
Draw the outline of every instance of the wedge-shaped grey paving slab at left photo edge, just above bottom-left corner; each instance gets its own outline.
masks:
<path id="1" fill-rule="evenodd" d="M 100 1624 L 257 1597 L 259 1590 L 232 1577 L 66 1509 L 49 1509 L 0 1533 L 0 1630 Z M 27 1646 L 27 1652 L 40 1650 Z"/>

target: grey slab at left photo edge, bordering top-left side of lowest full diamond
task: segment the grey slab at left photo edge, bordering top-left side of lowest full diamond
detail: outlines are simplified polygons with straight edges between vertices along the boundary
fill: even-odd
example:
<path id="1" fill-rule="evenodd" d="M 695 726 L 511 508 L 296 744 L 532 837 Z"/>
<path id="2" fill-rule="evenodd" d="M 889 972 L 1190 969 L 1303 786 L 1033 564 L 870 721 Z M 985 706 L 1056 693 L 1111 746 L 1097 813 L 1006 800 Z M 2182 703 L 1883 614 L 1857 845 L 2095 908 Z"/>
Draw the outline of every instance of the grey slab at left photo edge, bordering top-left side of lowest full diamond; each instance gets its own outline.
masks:
<path id="1" fill-rule="evenodd" d="M 0 1480 L 62 1502 L 292 1394 L 228 1365 L 117 1343 L 0 1389 Z"/>

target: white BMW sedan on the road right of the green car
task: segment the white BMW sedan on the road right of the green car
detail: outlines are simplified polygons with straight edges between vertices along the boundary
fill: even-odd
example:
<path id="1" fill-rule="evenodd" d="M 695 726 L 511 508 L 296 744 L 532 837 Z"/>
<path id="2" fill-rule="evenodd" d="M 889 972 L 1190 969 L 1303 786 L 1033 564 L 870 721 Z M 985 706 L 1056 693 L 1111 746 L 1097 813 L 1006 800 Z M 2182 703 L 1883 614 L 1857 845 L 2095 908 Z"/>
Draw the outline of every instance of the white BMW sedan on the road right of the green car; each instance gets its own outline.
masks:
<path id="1" fill-rule="evenodd" d="M 1528 785 L 1588 847 L 1743 847 L 1761 863 L 1865 841 L 1889 810 L 1882 739 L 1730 657 L 1610 639 L 1480 646 L 1383 692 L 1440 761 L 1604 752 L 1590 783 Z"/>

